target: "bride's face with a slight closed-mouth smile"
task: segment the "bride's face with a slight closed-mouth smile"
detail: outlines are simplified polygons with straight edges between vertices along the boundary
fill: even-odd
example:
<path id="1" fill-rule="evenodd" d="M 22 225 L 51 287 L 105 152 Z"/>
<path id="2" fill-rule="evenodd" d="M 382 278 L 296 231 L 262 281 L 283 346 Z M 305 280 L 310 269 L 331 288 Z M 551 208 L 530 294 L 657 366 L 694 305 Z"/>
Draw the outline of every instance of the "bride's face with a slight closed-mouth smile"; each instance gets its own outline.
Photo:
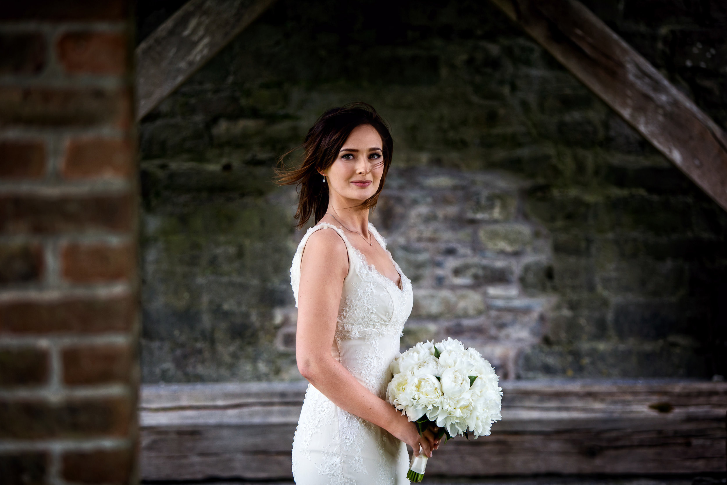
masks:
<path id="1" fill-rule="evenodd" d="M 353 129 L 325 175 L 331 196 L 365 201 L 379 189 L 384 173 L 381 136 L 370 124 Z"/>

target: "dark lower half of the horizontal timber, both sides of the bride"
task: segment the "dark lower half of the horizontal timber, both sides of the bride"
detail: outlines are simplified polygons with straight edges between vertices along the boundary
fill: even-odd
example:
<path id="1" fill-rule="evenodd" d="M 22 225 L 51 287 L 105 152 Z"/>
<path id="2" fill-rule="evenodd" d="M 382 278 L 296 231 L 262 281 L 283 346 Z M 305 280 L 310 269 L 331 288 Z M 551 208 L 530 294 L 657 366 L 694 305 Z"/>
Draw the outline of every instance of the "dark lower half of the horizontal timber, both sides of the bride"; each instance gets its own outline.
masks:
<path id="1" fill-rule="evenodd" d="M 530 432 L 499 429 L 487 438 L 449 441 L 436 453 L 429 471 L 449 476 L 495 476 L 725 470 L 723 420 L 678 422 L 659 429 L 654 429 L 654 423 L 646 426 L 624 421 L 614 423 L 610 430 L 604 430 L 600 423 L 593 428 L 583 424 L 571 430 L 566 426 L 550 431 L 541 426 Z M 616 424 L 623 428 L 617 428 Z M 294 425 L 269 429 L 220 426 L 185 429 L 180 433 L 167 431 L 163 439 L 152 430 L 145 430 L 142 476 L 155 480 L 212 476 L 290 478 L 294 429 Z M 276 459 L 267 461 L 269 456 Z M 260 461 L 265 463 L 262 468 Z M 174 465 L 180 462 L 187 465 L 184 468 Z M 207 468 L 211 463 L 214 468 Z M 223 463 L 228 465 L 222 466 Z M 463 470 L 466 472 L 462 473 Z"/>

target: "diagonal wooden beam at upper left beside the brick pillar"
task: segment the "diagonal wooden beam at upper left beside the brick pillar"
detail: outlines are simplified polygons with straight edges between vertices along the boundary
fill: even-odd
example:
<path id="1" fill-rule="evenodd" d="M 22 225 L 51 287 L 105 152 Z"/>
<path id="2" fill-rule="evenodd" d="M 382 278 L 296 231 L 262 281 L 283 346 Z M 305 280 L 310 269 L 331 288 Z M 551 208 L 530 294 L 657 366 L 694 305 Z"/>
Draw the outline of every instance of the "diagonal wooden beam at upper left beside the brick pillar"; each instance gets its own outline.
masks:
<path id="1" fill-rule="evenodd" d="M 190 0 L 136 49 L 137 121 L 275 0 Z"/>

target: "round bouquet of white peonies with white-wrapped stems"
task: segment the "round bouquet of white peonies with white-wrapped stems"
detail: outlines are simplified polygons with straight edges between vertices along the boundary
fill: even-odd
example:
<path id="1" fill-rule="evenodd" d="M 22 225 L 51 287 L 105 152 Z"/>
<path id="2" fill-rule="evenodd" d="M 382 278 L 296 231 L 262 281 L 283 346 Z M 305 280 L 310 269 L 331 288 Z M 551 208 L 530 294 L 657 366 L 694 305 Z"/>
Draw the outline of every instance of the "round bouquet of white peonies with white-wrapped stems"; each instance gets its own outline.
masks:
<path id="1" fill-rule="evenodd" d="M 497 374 L 476 349 L 465 349 L 459 340 L 419 342 L 394 358 L 391 372 L 387 401 L 416 423 L 419 434 L 429 428 L 444 442 L 457 435 L 479 438 L 502 419 Z M 406 478 L 422 481 L 426 465 L 422 453 L 412 460 Z"/>

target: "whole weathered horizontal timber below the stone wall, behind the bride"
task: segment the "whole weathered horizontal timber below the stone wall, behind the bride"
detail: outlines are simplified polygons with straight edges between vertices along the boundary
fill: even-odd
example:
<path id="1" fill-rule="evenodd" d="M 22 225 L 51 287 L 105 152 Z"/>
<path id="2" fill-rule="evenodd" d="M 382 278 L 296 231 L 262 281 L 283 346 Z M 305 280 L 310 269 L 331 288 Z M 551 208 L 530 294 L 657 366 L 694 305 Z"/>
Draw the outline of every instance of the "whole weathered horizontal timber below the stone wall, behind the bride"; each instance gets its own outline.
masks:
<path id="1" fill-rule="evenodd" d="M 726 468 L 724 382 L 502 385 L 503 420 L 491 436 L 450 441 L 427 467 L 430 476 Z M 290 447 L 304 395 L 300 382 L 144 386 L 142 478 L 291 478 Z"/>

